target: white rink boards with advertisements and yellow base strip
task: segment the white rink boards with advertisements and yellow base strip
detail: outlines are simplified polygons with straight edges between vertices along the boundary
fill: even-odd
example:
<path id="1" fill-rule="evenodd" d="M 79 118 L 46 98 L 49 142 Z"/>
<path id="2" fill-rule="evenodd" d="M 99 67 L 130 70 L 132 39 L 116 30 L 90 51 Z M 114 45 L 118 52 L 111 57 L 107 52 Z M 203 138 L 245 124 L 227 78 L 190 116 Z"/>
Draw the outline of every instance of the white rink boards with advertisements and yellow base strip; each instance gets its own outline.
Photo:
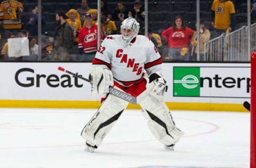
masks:
<path id="1" fill-rule="evenodd" d="M 98 108 L 88 77 L 91 63 L 0 63 L 0 107 Z M 171 110 L 239 111 L 250 102 L 249 63 L 163 63 Z M 129 108 L 140 108 L 129 105 Z"/>

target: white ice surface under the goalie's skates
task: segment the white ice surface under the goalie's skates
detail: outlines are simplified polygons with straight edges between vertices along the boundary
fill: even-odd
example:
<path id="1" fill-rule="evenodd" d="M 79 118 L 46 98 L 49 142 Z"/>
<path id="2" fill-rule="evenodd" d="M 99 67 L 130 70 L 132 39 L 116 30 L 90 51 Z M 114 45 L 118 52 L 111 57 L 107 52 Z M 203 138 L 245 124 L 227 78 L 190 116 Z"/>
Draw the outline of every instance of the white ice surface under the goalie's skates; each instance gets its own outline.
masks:
<path id="1" fill-rule="evenodd" d="M 80 133 L 95 111 L 0 108 L 0 167 L 250 165 L 249 113 L 171 111 L 185 132 L 171 152 L 139 110 L 126 110 L 95 153 L 86 153 Z"/>

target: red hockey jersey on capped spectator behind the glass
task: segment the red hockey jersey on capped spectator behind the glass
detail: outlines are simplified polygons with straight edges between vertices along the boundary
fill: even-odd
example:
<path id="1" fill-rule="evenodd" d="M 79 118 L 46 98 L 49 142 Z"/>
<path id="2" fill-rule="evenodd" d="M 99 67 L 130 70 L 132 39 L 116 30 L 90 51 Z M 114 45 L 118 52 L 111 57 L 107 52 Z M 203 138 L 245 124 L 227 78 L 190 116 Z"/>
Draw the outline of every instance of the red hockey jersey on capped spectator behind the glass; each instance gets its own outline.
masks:
<path id="1" fill-rule="evenodd" d="M 93 25 L 91 28 L 83 27 L 79 31 L 78 48 L 84 48 L 84 53 L 97 51 L 97 32 L 97 25 Z M 101 42 L 102 40 L 103 34 L 101 32 Z"/>

